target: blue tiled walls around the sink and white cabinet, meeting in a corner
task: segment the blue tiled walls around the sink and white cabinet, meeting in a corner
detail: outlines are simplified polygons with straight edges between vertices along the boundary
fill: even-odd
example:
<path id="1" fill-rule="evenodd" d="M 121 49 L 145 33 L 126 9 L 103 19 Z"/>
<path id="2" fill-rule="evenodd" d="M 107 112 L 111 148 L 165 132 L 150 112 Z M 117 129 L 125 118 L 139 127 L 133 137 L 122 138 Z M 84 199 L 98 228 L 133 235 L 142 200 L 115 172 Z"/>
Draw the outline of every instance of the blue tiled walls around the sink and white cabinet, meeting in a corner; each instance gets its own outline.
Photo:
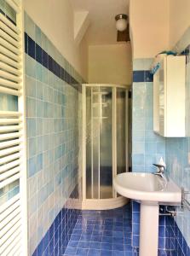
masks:
<path id="1" fill-rule="evenodd" d="M 148 73 L 152 60 L 134 61 L 133 77 L 133 172 L 154 172 L 153 163 L 162 156 L 167 172 L 179 186 L 190 190 L 190 28 L 176 44 L 178 52 L 187 55 L 186 120 L 187 137 L 163 138 L 153 132 L 153 78 Z M 184 50 L 185 49 L 185 50 Z M 190 200 L 190 197 L 189 197 Z M 190 255 L 190 212 L 177 209 L 173 218 L 160 217 L 159 248 L 175 252 L 175 255 Z M 139 247 L 138 203 L 132 201 L 132 246 Z M 173 255 L 173 254 L 172 254 Z"/>

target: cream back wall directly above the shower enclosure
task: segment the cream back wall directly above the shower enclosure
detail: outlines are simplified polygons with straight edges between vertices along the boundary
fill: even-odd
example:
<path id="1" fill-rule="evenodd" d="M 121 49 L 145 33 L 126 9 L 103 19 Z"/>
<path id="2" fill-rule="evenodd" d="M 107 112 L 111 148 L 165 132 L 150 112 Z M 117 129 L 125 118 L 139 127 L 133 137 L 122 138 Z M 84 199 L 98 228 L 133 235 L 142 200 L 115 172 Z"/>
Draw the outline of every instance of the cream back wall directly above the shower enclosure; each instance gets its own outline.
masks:
<path id="1" fill-rule="evenodd" d="M 89 83 L 131 84 L 130 44 L 89 46 Z"/>

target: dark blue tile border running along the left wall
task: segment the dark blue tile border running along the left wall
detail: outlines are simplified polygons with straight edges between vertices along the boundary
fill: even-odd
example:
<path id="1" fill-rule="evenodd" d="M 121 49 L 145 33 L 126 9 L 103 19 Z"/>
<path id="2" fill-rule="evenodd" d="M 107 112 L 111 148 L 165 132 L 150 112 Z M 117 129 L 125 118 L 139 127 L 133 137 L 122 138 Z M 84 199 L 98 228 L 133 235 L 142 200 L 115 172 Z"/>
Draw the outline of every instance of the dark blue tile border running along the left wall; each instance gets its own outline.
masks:
<path id="1" fill-rule="evenodd" d="M 25 32 L 25 52 L 31 56 L 32 59 L 49 69 L 50 72 L 54 73 L 59 79 L 70 84 L 74 89 L 82 92 L 82 85 L 76 81 L 66 72 L 66 69 L 61 67 L 52 56 L 50 56 L 40 45 L 38 45 L 32 38 Z"/>

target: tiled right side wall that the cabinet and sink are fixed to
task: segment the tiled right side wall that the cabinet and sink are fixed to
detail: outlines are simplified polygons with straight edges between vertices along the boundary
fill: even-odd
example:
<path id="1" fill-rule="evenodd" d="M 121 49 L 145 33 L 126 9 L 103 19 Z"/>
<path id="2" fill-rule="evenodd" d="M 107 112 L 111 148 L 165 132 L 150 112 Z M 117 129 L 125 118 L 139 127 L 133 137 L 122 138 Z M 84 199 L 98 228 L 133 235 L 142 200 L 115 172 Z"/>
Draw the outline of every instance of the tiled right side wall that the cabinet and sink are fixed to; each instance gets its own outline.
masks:
<path id="1" fill-rule="evenodd" d="M 170 177 L 172 177 L 176 183 L 184 187 L 184 189 L 190 191 L 190 27 L 181 37 L 175 47 L 176 51 L 183 52 L 187 55 L 186 66 L 186 131 L 187 135 L 184 138 L 167 138 L 166 139 L 166 164 Z M 190 195 L 187 196 L 190 201 Z M 177 216 L 175 218 L 176 224 L 180 231 L 175 233 L 178 236 L 177 240 L 180 242 L 180 246 L 183 248 L 184 244 L 190 247 L 190 212 L 184 207 L 177 209 Z M 182 234 L 182 236 L 178 234 Z M 190 255 L 190 249 L 188 248 L 187 255 Z"/>

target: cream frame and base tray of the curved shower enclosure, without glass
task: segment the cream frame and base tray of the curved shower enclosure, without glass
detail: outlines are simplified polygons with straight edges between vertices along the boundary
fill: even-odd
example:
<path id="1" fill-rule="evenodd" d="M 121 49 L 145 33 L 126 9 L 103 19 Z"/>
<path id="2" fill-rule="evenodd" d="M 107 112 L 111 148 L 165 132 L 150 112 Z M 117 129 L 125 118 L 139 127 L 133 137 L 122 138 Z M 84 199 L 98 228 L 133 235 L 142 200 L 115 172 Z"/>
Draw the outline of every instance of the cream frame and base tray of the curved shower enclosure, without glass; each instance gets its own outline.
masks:
<path id="1" fill-rule="evenodd" d="M 112 209 L 116 207 L 122 207 L 129 200 L 117 194 L 115 189 L 112 187 L 112 198 L 101 199 L 100 198 L 100 163 L 99 163 L 99 184 L 98 191 L 99 197 L 98 199 L 87 199 L 87 191 L 86 191 L 86 88 L 87 87 L 109 87 L 112 88 L 112 178 L 117 175 L 117 88 L 124 89 L 126 91 L 130 90 L 130 86 L 127 85 L 119 85 L 119 84 L 82 84 L 82 183 L 83 183 L 83 201 L 82 208 L 89 210 L 106 210 Z M 129 99 L 128 96 L 125 97 L 125 142 L 128 142 L 128 111 L 129 111 Z M 93 148 L 93 147 L 92 147 Z M 93 150 L 93 149 L 91 149 Z M 100 154 L 100 151 L 99 151 Z M 129 143 L 125 143 L 125 166 L 126 172 L 129 172 Z M 99 155 L 100 160 L 100 155 Z M 93 180 L 92 180 L 93 184 Z"/>

